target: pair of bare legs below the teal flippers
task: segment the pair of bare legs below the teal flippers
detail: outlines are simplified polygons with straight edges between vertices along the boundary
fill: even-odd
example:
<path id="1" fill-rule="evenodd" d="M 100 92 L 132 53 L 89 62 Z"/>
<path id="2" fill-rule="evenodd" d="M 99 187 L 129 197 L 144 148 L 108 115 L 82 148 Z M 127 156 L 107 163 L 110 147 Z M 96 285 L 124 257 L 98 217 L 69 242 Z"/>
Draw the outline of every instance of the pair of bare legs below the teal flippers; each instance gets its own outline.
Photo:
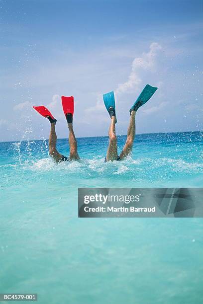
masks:
<path id="1" fill-rule="evenodd" d="M 130 123 L 127 130 L 127 140 L 125 146 L 123 147 L 122 152 L 120 153 L 119 159 L 122 160 L 125 158 L 131 151 L 135 138 L 135 114 L 136 111 L 131 111 Z M 109 145 L 106 153 L 106 161 L 113 161 L 118 159 L 117 152 L 117 139 L 115 135 L 115 116 L 111 117 L 111 123 L 108 131 L 109 136 Z"/>

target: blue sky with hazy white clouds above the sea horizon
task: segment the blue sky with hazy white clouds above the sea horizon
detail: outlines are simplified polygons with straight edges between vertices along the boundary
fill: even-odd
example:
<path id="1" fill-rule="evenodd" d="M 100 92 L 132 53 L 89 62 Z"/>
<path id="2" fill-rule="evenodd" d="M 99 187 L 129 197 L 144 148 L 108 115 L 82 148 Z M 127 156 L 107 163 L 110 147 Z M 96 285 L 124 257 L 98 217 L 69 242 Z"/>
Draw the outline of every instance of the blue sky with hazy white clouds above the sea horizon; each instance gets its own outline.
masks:
<path id="1" fill-rule="evenodd" d="M 158 86 L 136 133 L 203 128 L 202 0 L 0 0 L 0 141 L 47 139 L 61 95 L 74 96 L 76 137 L 106 136 L 102 94 L 113 90 L 116 133 L 146 83 Z"/>

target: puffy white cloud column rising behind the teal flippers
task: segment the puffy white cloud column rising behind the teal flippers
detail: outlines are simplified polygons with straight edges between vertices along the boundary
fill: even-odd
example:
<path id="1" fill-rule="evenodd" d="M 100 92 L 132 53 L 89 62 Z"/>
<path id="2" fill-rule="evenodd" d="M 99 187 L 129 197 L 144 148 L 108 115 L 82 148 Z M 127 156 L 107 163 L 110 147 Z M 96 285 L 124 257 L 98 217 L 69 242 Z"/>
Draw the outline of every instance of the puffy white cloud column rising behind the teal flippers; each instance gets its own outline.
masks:
<path id="1" fill-rule="evenodd" d="M 156 56 L 158 51 L 161 50 L 161 45 L 153 42 L 150 45 L 148 53 L 143 53 L 141 57 L 137 57 L 132 62 L 131 73 L 128 76 L 128 80 L 118 85 L 115 93 L 120 94 L 124 92 L 130 92 L 140 89 L 142 79 L 140 77 L 141 70 L 153 70 L 156 65 Z"/>

